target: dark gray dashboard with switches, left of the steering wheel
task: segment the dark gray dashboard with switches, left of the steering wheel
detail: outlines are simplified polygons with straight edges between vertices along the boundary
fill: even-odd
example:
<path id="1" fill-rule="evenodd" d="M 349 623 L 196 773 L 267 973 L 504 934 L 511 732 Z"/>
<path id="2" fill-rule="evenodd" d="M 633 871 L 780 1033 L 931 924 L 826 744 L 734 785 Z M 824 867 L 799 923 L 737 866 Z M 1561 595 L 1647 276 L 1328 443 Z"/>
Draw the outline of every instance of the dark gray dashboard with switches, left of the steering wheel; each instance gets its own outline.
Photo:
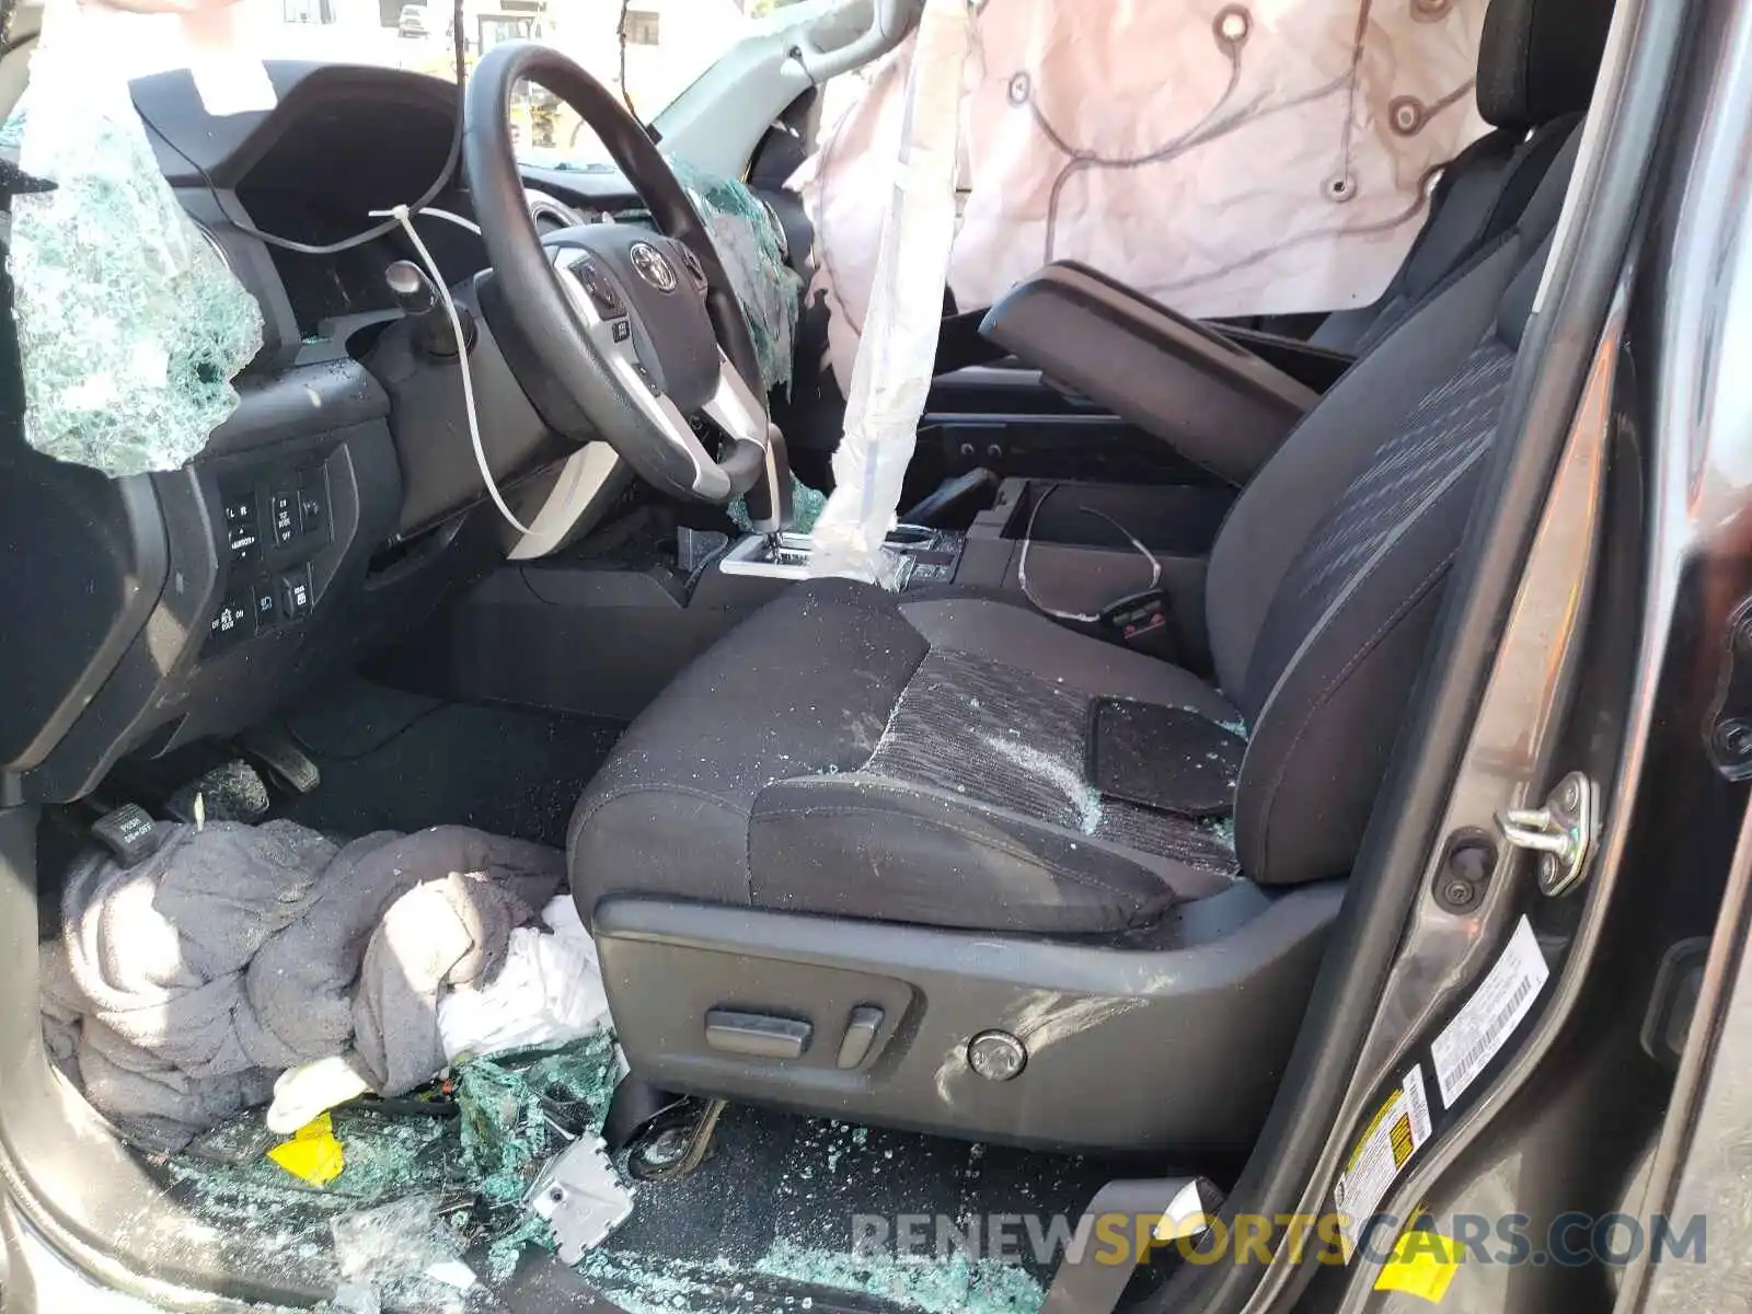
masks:
<path id="1" fill-rule="evenodd" d="M 343 65 L 268 72 L 266 114 L 208 116 L 186 72 L 133 84 L 165 179 L 263 310 L 238 410 L 189 466 L 121 480 L 35 454 L 5 419 L 0 552 L 32 562 L 0 573 L 9 802 L 77 799 L 126 753 L 245 729 L 408 634 L 508 547 L 457 371 L 415 350 L 384 279 L 413 254 L 405 235 L 307 256 L 247 231 L 329 244 L 424 194 L 449 158 L 456 88 Z M 470 219 L 466 189 L 433 203 Z M 636 203 L 613 172 L 541 170 L 531 193 L 541 228 Z M 417 223 L 466 303 L 487 265 L 478 235 Z M 470 361 L 487 463 L 515 503 L 576 443 L 526 396 L 485 319 Z"/>

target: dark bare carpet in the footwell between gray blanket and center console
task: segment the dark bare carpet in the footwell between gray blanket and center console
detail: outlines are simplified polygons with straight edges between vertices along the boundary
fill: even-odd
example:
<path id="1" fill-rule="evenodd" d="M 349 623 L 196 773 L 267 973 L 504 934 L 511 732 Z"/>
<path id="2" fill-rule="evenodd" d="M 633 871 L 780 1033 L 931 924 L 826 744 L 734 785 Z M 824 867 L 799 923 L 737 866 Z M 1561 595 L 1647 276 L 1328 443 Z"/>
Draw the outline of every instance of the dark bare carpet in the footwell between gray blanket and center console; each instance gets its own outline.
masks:
<path id="1" fill-rule="evenodd" d="M 566 843 L 566 822 L 620 722 L 443 703 L 347 680 L 286 717 L 322 785 L 280 815 L 335 834 L 473 825 Z"/>

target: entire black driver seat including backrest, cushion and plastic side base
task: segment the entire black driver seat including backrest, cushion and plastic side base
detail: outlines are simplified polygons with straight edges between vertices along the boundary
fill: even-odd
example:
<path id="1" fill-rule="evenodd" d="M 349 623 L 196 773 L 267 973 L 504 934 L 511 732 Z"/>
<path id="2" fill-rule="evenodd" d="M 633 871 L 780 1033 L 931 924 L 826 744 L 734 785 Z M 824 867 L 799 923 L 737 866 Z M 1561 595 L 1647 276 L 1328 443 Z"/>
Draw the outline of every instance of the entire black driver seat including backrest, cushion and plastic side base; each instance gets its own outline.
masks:
<path id="1" fill-rule="evenodd" d="M 1472 513 L 1575 156 L 1333 387 L 1214 545 L 1214 680 L 1007 594 L 794 585 L 571 825 L 631 1070 L 1058 1149 L 1251 1144 Z M 1091 703 L 1246 727 L 1232 816 L 1090 783 Z M 1200 729 L 1202 727 L 1202 729 Z"/>

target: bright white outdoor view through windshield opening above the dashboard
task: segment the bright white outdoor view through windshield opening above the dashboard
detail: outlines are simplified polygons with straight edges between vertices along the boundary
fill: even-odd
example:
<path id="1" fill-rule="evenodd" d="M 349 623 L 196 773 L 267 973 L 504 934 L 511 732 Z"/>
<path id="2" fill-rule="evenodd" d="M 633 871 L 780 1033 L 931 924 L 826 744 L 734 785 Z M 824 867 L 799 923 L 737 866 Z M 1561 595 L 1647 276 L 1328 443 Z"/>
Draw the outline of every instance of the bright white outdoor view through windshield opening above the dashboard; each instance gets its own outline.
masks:
<path id="1" fill-rule="evenodd" d="M 464 0 L 464 61 L 506 40 L 541 40 L 576 60 L 650 121 L 745 37 L 822 9 L 822 0 Z M 261 60 L 322 60 L 456 77 L 456 7 L 449 0 L 238 0 L 237 46 Z M 128 74 L 187 67 L 173 14 L 126 19 Z M 533 163 L 606 161 L 596 135 L 554 96 L 524 89 L 513 140 Z"/>

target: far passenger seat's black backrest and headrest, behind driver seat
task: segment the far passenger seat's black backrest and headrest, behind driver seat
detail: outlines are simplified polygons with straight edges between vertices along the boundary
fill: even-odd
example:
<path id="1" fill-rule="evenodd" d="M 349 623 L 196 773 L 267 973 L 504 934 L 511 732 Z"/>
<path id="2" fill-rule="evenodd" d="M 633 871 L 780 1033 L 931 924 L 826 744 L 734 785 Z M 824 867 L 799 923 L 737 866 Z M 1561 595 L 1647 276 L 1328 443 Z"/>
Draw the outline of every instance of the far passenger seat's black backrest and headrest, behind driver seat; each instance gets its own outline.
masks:
<path id="1" fill-rule="evenodd" d="M 1367 354 L 1424 296 L 1521 219 L 1600 74 L 1612 0 L 1491 0 L 1475 95 L 1493 131 L 1442 170 L 1430 217 L 1388 291 L 1326 315 L 1316 347 Z"/>

